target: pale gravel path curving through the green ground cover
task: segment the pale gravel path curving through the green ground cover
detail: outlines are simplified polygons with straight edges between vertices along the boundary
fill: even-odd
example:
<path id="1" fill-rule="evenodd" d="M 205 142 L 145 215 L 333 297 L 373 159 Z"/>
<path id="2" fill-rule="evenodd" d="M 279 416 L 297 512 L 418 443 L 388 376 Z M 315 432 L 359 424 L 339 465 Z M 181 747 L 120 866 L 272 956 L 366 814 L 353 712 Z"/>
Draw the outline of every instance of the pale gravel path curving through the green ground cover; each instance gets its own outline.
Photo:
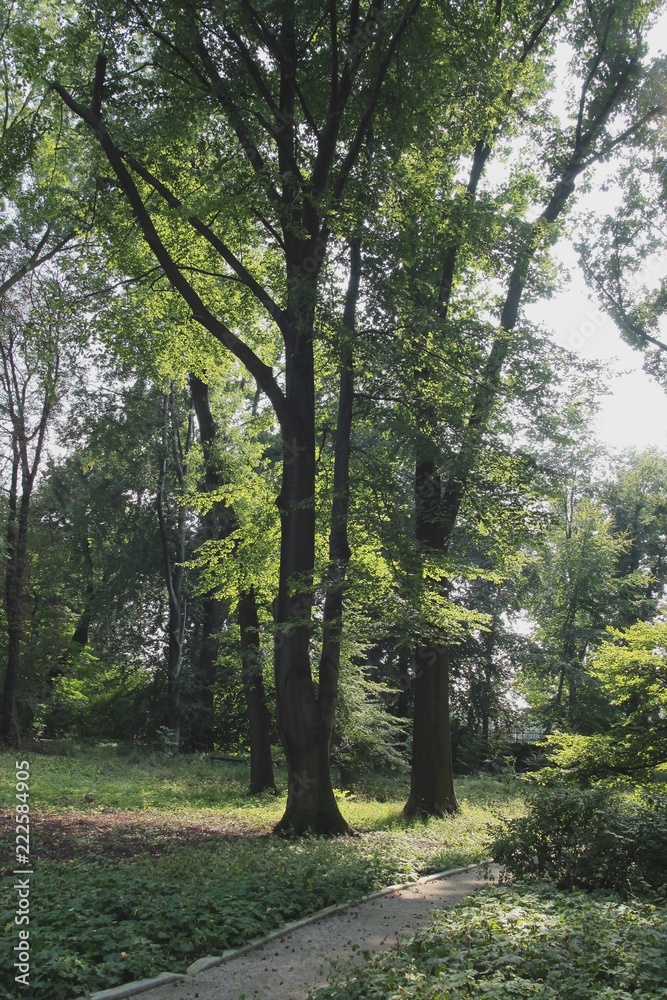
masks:
<path id="1" fill-rule="evenodd" d="M 491 867 L 497 875 L 498 869 Z M 477 871 L 416 883 L 300 927 L 187 980 L 140 994 L 146 1000 L 306 1000 L 341 965 L 411 937 L 436 910 L 488 882 Z"/>

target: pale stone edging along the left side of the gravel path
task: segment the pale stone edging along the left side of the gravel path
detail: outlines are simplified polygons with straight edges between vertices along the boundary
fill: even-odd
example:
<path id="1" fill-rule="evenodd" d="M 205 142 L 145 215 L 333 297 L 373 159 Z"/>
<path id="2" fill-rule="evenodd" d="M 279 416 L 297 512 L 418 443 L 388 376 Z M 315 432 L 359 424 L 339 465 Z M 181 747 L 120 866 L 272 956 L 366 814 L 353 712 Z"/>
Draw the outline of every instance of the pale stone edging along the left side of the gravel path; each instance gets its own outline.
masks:
<path id="1" fill-rule="evenodd" d="M 307 927 L 309 924 L 323 920 L 324 917 L 330 917 L 334 913 L 342 913 L 345 910 L 350 910 L 353 906 L 359 906 L 361 903 L 367 903 L 372 899 L 389 896 L 392 892 L 411 889 L 415 885 L 424 885 L 426 882 L 435 882 L 437 879 L 451 878 L 453 875 L 462 875 L 464 872 L 474 871 L 476 868 L 484 868 L 492 863 L 493 858 L 486 858 L 484 861 L 477 861 L 472 865 L 464 865 L 463 868 L 450 868 L 445 872 L 436 872 L 434 875 L 422 875 L 421 878 L 415 879 L 412 882 L 389 885 L 386 889 L 379 889 L 377 892 L 372 892 L 369 896 L 362 896 L 361 899 L 355 899 L 350 903 L 335 903 L 333 906 L 325 906 L 324 909 L 316 910 L 315 913 L 311 913 L 308 917 L 302 917 L 300 920 L 292 920 L 278 930 L 270 931 L 269 934 L 265 934 L 263 937 L 253 938 L 252 941 L 241 945 L 240 948 L 227 948 L 223 951 L 222 955 L 207 955 L 204 958 L 198 958 L 196 962 L 188 966 L 185 972 L 161 972 L 153 979 L 138 979 L 133 983 L 124 983 L 122 986 L 113 986 L 111 989 L 101 990 L 98 993 L 86 994 L 87 1000 L 126 1000 L 128 997 L 136 996 L 138 993 L 146 993 L 149 990 L 157 989 L 158 986 L 165 986 L 167 983 L 190 980 L 198 972 L 204 972 L 205 969 L 212 969 L 217 965 L 230 962 L 239 955 L 255 951 L 257 948 L 275 941 L 276 938 L 285 937 L 293 931 L 299 930 L 301 927 Z"/>

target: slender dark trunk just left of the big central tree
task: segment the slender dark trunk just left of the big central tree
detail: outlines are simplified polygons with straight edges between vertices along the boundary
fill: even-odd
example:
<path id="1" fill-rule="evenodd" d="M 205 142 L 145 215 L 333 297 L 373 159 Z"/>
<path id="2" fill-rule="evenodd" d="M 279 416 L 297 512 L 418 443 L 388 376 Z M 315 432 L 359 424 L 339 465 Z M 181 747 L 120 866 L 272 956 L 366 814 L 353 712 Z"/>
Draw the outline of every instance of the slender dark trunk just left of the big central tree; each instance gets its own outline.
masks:
<path id="1" fill-rule="evenodd" d="M 271 717 L 266 705 L 259 648 L 259 618 L 255 592 L 241 594 L 237 608 L 241 631 L 241 677 L 248 707 L 250 734 L 250 794 L 270 788 L 275 792 L 271 757 Z"/>

